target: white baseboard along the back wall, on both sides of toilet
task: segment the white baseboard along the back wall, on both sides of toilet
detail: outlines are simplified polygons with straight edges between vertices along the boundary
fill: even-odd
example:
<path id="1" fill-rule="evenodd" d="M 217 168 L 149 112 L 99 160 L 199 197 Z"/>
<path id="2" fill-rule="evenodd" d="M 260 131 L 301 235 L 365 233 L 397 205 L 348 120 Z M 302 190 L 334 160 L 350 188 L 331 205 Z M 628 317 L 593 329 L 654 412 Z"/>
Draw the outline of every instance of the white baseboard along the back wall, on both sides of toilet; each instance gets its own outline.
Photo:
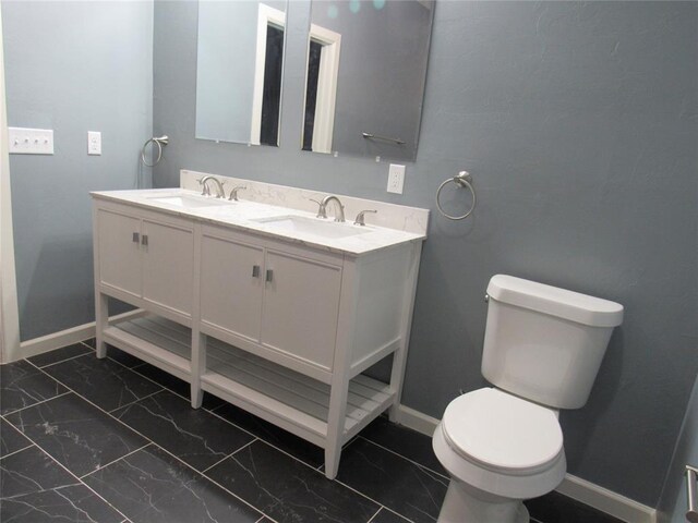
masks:
<path id="1" fill-rule="evenodd" d="M 431 437 L 438 425 L 438 419 L 409 406 L 400 405 L 398 408 L 398 423 Z M 568 498 L 627 523 L 657 523 L 655 509 L 571 474 L 565 474 L 565 479 L 556 490 Z"/>

